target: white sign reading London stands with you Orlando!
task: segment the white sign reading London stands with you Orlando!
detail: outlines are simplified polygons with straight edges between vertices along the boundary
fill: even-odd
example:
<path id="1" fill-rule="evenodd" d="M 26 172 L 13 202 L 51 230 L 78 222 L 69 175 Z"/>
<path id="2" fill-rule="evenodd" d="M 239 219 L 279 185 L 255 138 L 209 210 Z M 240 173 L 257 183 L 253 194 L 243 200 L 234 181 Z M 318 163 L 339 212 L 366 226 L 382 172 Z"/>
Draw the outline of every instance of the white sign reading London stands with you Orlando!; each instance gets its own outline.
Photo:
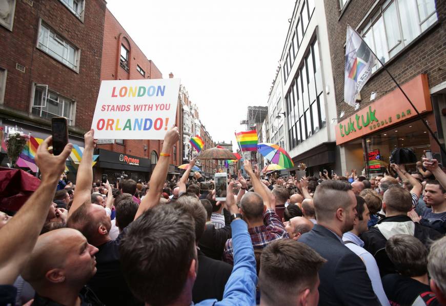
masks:
<path id="1" fill-rule="evenodd" d="M 179 78 L 104 80 L 91 128 L 98 139 L 164 139 L 175 125 Z"/>

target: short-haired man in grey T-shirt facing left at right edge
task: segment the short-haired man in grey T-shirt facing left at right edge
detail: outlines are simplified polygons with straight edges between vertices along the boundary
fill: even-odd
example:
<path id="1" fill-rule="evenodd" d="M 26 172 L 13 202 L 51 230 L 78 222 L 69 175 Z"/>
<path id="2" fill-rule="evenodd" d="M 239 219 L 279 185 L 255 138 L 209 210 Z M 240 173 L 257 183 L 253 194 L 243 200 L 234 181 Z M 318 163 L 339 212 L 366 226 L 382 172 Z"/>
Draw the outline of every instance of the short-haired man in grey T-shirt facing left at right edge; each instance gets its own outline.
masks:
<path id="1" fill-rule="evenodd" d="M 437 180 L 430 180 L 424 188 L 426 208 L 421 215 L 420 224 L 446 234 L 446 191 Z"/>

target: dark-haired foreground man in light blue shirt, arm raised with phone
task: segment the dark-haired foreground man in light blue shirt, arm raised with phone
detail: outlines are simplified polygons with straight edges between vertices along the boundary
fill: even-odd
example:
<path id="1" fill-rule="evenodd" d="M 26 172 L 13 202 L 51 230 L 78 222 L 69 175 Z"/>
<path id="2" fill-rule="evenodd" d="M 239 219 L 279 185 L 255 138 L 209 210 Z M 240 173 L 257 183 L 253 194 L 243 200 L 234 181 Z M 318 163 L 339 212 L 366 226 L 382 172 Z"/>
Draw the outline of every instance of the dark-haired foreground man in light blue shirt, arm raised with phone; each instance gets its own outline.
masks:
<path id="1" fill-rule="evenodd" d="M 260 181 L 255 183 L 258 185 Z M 228 194 L 232 193 L 232 185 L 231 182 L 228 186 Z M 257 281 L 254 251 L 246 223 L 236 214 L 238 209 L 233 197 L 228 197 L 226 205 L 235 214 L 231 223 L 234 268 L 221 304 L 252 305 Z M 126 231 L 119 251 L 132 292 L 146 304 L 191 304 L 197 253 L 194 222 L 189 214 L 170 205 L 145 211 Z M 216 302 L 205 300 L 195 305 Z"/>

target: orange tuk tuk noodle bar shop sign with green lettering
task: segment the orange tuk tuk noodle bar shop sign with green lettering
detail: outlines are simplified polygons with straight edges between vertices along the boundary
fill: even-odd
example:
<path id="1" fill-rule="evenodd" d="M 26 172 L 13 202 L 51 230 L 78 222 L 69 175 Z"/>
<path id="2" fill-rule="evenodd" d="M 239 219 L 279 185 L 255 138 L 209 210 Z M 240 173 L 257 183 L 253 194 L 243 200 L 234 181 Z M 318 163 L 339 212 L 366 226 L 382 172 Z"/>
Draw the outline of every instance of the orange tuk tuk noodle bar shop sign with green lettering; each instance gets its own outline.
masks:
<path id="1" fill-rule="evenodd" d="M 432 111 L 426 74 L 416 76 L 401 88 L 420 113 Z M 396 88 L 336 125 L 336 145 L 372 134 L 416 115 L 409 101 Z"/>

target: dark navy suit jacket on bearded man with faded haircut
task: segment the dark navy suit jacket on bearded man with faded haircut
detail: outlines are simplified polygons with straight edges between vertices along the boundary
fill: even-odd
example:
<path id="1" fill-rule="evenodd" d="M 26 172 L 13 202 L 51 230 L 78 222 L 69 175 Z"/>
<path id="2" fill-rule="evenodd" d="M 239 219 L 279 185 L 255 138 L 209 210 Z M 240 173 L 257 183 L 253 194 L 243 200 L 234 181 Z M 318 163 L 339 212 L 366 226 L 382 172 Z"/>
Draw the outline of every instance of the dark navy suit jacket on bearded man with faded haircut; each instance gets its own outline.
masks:
<path id="1" fill-rule="evenodd" d="M 327 259 L 319 270 L 319 305 L 379 305 L 366 266 L 334 233 L 316 224 L 299 242 Z"/>

